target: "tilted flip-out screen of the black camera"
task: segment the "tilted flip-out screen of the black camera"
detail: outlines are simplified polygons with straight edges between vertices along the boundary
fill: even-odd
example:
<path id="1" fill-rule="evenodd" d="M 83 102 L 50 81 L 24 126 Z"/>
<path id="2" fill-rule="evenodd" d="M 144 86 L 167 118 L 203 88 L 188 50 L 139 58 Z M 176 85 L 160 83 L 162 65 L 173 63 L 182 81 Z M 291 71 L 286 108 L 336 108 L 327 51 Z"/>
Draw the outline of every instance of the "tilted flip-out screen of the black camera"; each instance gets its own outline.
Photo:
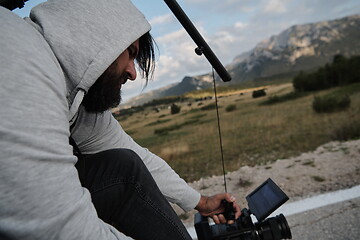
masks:
<path id="1" fill-rule="evenodd" d="M 264 220 L 288 199 L 270 178 L 246 197 L 249 209 L 258 221 Z"/>

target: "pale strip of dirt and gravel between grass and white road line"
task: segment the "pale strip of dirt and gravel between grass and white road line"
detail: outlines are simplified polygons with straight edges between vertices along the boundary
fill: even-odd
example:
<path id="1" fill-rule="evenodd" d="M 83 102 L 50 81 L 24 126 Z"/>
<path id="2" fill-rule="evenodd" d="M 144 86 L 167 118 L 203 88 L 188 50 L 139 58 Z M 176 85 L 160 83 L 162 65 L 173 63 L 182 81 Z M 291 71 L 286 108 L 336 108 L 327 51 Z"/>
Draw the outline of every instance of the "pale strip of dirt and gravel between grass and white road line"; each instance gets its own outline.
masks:
<path id="1" fill-rule="evenodd" d="M 289 202 L 359 185 L 360 140 L 330 142 L 290 159 L 242 167 L 226 175 L 227 189 L 241 208 L 247 207 L 245 197 L 268 178 L 289 196 Z M 203 195 L 213 195 L 224 192 L 223 182 L 223 176 L 213 176 L 190 185 Z M 182 210 L 175 209 L 186 226 L 193 226 L 196 211 L 183 214 Z"/>

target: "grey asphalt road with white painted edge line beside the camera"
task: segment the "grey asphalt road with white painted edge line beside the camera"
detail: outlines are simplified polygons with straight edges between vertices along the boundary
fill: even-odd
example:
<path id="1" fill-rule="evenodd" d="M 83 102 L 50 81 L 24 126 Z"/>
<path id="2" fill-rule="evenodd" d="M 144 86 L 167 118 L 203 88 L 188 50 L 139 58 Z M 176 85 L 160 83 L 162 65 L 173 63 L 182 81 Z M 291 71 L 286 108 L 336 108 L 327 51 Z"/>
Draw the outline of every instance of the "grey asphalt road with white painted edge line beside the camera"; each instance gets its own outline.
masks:
<path id="1" fill-rule="evenodd" d="M 360 186 L 281 206 L 295 240 L 360 240 Z M 188 229 L 196 239 L 193 228 Z M 239 239 L 241 240 L 241 239 Z"/>

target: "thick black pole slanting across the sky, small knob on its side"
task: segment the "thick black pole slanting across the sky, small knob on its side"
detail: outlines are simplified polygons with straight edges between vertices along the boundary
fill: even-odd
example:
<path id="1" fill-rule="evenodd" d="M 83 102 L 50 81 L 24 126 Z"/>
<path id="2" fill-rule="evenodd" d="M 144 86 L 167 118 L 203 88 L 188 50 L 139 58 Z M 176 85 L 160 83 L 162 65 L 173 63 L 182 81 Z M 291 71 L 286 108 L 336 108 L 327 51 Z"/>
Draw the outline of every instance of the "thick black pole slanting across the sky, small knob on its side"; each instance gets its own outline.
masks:
<path id="1" fill-rule="evenodd" d="M 181 9 L 180 5 L 176 2 L 176 0 L 164 0 L 168 5 L 170 10 L 174 13 L 175 17 L 179 20 L 181 25 L 188 32 L 190 37 L 194 40 L 197 45 L 195 52 L 198 55 L 204 54 L 207 60 L 210 62 L 211 66 L 215 69 L 215 71 L 219 74 L 220 78 L 224 82 L 228 82 L 231 80 L 230 74 L 226 71 L 225 67 L 221 64 L 219 59 L 216 57 L 214 52 L 211 50 L 209 45 L 205 42 L 204 38 L 201 36 L 199 31 L 196 29 L 194 24 L 185 14 L 185 12 Z"/>

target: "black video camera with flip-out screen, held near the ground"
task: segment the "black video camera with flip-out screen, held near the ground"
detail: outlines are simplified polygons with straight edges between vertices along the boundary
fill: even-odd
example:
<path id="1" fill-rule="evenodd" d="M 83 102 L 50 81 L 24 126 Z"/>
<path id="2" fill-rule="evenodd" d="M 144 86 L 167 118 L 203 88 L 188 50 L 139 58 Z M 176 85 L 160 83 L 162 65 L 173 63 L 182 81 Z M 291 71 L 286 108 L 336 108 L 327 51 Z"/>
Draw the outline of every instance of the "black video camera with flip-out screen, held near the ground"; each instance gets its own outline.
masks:
<path id="1" fill-rule="evenodd" d="M 207 217 L 195 214 L 198 240 L 280 240 L 291 239 L 291 231 L 283 214 L 267 218 L 289 200 L 288 196 L 269 178 L 246 200 L 248 207 L 233 224 L 210 225 Z M 228 214 L 228 213 L 225 213 Z M 257 222 L 253 223 L 251 215 Z"/>

